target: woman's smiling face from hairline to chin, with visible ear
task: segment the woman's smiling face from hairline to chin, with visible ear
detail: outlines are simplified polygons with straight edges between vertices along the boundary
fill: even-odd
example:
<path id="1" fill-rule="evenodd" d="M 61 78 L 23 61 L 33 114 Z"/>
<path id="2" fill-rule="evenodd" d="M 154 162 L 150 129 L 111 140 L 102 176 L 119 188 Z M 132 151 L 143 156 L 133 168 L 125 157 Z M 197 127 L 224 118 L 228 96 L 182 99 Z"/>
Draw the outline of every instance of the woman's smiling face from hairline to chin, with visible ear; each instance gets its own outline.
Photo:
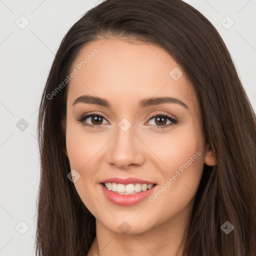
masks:
<path id="1" fill-rule="evenodd" d="M 66 154 L 88 210 L 118 233 L 184 220 L 203 163 L 215 162 L 182 68 L 158 46 L 102 39 L 85 45 L 71 70 Z M 94 116 L 80 119 L 84 114 Z M 127 182 L 114 180 L 127 177 Z M 119 195 L 103 187 L 102 180 L 109 178 L 113 190 L 142 191 Z M 146 185 L 135 185 L 140 182 L 132 178 Z M 147 184 L 156 185 L 143 191 Z"/>

